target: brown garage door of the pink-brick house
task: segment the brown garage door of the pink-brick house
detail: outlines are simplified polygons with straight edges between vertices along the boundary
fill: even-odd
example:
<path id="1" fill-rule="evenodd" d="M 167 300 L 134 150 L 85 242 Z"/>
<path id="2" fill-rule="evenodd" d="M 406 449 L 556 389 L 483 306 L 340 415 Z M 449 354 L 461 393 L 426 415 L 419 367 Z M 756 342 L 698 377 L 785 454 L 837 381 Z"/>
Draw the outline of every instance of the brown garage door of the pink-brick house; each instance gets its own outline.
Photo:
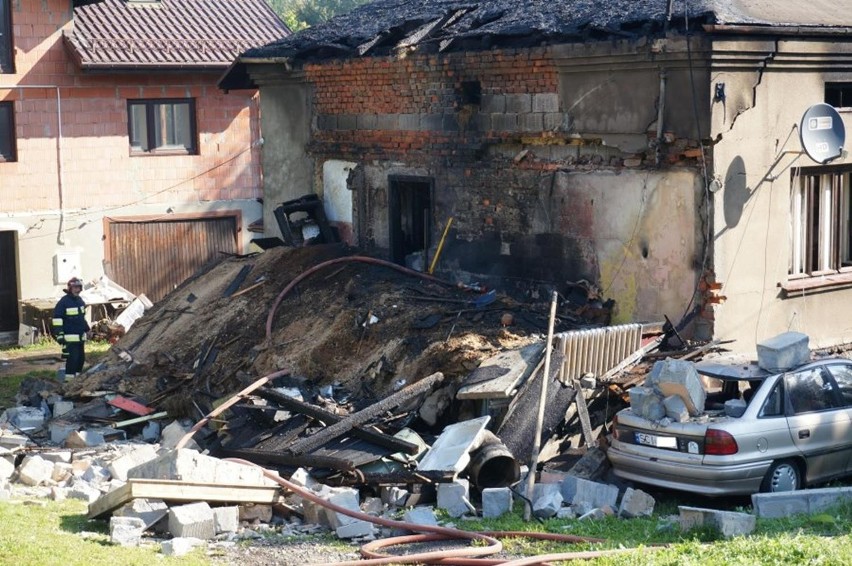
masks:
<path id="1" fill-rule="evenodd" d="M 237 253 L 238 216 L 107 220 L 106 274 L 159 301 L 221 252 Z"/>

